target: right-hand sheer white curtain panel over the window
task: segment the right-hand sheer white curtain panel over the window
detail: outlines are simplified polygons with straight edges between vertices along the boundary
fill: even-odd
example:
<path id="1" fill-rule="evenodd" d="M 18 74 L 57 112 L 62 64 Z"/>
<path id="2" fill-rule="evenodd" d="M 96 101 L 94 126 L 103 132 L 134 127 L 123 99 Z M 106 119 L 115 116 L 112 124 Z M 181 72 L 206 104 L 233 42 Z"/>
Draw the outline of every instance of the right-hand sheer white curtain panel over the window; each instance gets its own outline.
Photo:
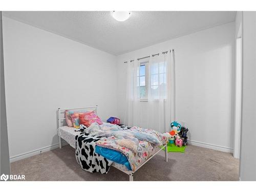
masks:
<path id="1" fill-rule="evenodd" d="M 169 130 L 170 122 L 169 61 L 168 54 L 159 54 L 151 57 L 147 68 L 147 127 L 162 133 Z"/>

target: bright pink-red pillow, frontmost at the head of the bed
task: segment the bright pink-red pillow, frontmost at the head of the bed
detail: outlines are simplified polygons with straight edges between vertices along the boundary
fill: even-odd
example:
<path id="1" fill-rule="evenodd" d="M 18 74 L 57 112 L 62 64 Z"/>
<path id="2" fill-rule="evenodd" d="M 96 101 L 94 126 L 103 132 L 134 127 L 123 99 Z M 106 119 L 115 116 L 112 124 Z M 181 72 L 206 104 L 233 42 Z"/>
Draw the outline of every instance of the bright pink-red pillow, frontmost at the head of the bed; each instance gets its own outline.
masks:
<path id="1" fill-rule="evenodd" d="M 103 124 L 101 119 L 96 115 L 94 111 L 79 114 L 80 124 L 89 127 L 92 123 Z"/>

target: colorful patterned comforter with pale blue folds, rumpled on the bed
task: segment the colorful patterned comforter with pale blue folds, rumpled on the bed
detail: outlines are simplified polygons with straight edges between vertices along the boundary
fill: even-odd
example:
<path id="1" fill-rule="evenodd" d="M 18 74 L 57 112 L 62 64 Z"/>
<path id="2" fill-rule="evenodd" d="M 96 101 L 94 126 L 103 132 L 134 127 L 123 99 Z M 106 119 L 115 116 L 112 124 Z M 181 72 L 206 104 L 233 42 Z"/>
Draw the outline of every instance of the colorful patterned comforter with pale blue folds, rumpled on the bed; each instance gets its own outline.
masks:
<path id="1" fill-rule="evenodd" d="M 124 154 L 132 170 L 136 170 L 148 157 L 155 154 L 158 146 L 167 143 L 167 138 L 151 129 L 132 127 L 122 130 L 118 126 L 99 126 L 92 124 L 87 130 L 97 136 L 104 137 L 96 145 L 110 148 Z"/>

